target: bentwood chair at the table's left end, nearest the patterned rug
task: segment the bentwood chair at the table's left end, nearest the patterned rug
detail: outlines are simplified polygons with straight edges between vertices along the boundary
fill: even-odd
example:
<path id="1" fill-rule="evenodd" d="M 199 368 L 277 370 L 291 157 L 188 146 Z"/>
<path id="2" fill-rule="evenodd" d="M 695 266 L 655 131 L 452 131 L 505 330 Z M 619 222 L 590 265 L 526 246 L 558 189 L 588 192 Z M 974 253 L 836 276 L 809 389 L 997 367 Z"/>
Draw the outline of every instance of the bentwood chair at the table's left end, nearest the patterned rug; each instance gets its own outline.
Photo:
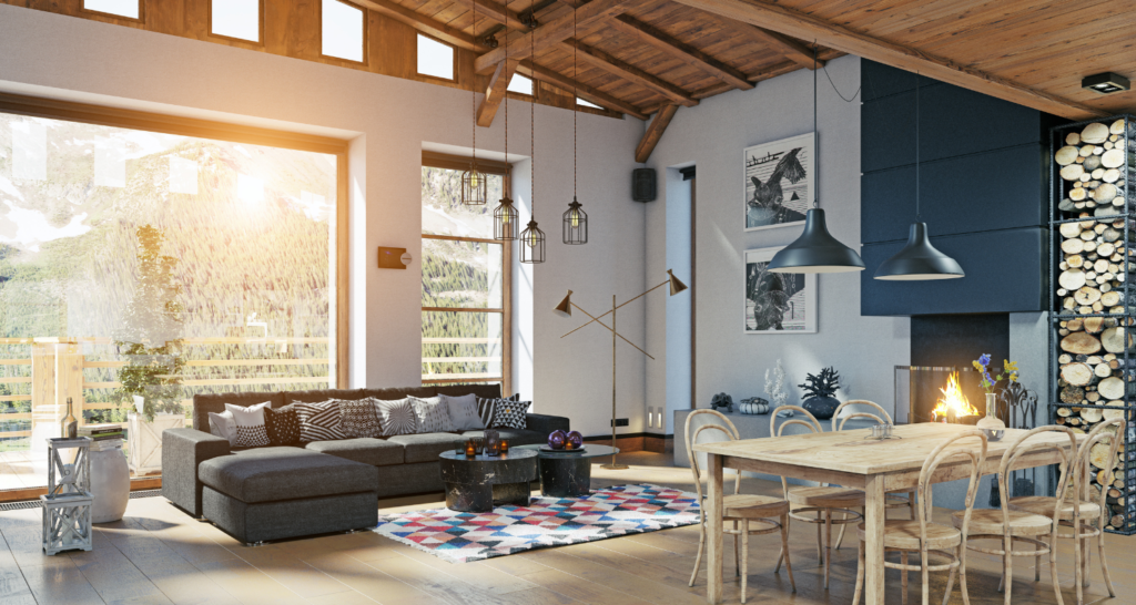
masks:
<path id="1" fill-rule="evenodd" d="M 691 419 L 703 414 L 712 418 L 711 422 L 698 427 L 692 434 Z M 700 503 L 699 554 L 694 557 L 694 572 L 691 573 L 690 586 L 694 586 L 694 578 L 699 574 L 699 568 L 702 564 L 702 551 L 705 548 L 707 541 L 705 496 L 702 494 L 702 472 L 699 469 L 699 460 L 693 447 L 694 444 L 699 443 L 699 436 L 703 431 L 720 432 L 720 437 L 727 440 L 736 440 L 741 437 L 734 423 L 717 410 L 695 410 L 686 417 L 686 426 L 683 429 L 686 436 L 686 457 L 691 463 L 691 471 L 694 473 L 694 488 L 698 491 Z M 742 603 L 745 603 L 746 579 L 749 577 L 750 536 L 780 531 L 782 556 L 785 557 L 785 571 L 788 572 L 790 586 L 796 593 L 796 582 L 793 580 L 793 565 L 788 560 L 788 502 L 774 496 L 740 494 L 742 471 L 736 471 L 736 473 L 734 493 L 722 498 L 722 533 L 734 536 L 734 570 L 742 577 Z M 733 521 L 733 529 L 725 527 L 729 521 Z M 751 522 L 755 523 L 757 527 L 751 529 Z M 738 537 L 742 540 L 741 558 L 738 558 Z M 778 560 L 779 569 L 780 560 Z"/>

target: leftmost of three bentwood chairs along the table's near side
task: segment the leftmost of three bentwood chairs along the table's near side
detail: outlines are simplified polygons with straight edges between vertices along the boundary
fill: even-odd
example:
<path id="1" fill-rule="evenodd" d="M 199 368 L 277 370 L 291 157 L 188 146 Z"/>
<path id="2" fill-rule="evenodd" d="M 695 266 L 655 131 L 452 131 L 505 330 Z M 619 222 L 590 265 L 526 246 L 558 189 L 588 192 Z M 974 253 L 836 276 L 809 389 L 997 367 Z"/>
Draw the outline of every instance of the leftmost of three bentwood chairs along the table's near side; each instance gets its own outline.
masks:
<path id="1" fill-rule="evenodd" d="M 962 442 L 962 443 L 960 443 Z M 959 446 L 963 447 L 959 447 Z M 934 510 L 934 495 L 932 493 L 932 478 L 938 467 L 951 459 L 966 459 L 970 462 L 970 482 L 967 486 L 966 509 L 961 513 L 961 522 L 957 527 L 935 523 L 930 520 Z M 959 577 L 959 585 L 962 590 L 962 603 L 970 605 L 970 595 L 967 593 L 967 532 L 969 530 L 971 512 L 975 506 L 975 495 L 978 493 L 979 469 L 986 462 L 986 434 L 980 430 L 967 430 L 959 432 L 946 442 L 939 444 L 932 451 L 919 471 L 919 507 L 918 519 L 888 519 L 884 522 L 884 553 L 899 552 L 900 562 L 884 562 L 885 568 L 897 569 L 901 572 L 900 586 L 903 590 L 903 603 L 908 602 L 908 572 L 918 571 L 922 574 L 922 605 L 930 603 L 930 572 L 950 571 L 951 575 L 946 580 L 946 593 L 943 603 L 946 603 L 954 588 L 954 577 Z M 860 538 L 860 562 L 857 566 L 855 591 L 852 595 L 852 605 L 860 605 L 860 593 L 863 590 L 863 574 L 867 569 L 867 556 L 864 540 L 867 532 L 863 523 L 857 528 Z M 919 553 L 919 564 L 908 563 L 910 553 Z M 932 564 L 930 556 L 945 558 L 945 563 Z"/>

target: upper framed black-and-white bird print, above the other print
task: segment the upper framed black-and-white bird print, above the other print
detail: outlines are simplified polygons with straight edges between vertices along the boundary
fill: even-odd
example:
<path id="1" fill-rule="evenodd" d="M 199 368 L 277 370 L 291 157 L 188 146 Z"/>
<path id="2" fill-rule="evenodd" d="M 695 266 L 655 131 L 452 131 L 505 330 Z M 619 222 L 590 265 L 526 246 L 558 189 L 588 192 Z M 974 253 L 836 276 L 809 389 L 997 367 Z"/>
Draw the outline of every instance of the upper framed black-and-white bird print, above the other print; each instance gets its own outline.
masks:
<path id="1" fill-rule="evenodd" d="M 745 148 L 745 230 L 804 221 L 812 208 L 816 133 Z"/>

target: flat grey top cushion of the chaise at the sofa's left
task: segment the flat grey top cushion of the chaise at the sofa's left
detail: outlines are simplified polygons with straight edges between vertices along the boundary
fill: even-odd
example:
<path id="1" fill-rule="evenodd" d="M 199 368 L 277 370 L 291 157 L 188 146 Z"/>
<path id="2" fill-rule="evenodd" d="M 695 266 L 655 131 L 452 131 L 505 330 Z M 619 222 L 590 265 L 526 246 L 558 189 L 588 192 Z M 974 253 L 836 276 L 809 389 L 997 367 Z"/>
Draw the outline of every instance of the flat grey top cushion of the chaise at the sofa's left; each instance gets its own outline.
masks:
<path id="1" fill-rule="evenodd" d="M 258 447 L 207 460 L 201 482 L 241 502 L 277 502 L 375 489 L 375 467 L 299 447 Z"/>

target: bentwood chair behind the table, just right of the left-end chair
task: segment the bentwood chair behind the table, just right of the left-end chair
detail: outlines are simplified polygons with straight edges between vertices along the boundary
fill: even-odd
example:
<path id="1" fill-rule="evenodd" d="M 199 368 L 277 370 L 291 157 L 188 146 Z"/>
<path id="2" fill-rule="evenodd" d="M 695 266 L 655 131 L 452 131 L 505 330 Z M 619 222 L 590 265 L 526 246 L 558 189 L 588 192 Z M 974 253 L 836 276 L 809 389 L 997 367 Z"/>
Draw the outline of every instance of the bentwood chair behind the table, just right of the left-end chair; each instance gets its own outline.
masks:
<path id="1" fill-rule="evenodd" d="M 790 410 L 802 418 L 794 415 L 782 422 L 778 427 L 777 414 Z M 777 407 L 769 419 L 769 435 L 780 437 L 786 427 L 794 425 L 805 427 L 812 432 L 822 432 L 820 422 L 808 410 L 799 405 L 782 405 Z M 816 523 L 817 526 L 817 557 L 825 568 L 825 589 L 827 590 L 828 570 L 833 554 L 833 526 L 857 523 L 863 520 L 863 514 L 853 509 L 862 510 L 866 496 L 862 490 L 840 486 L 794 486 L 791 488 L 785 477 L 782 477 L 782 491 L 785 495 L 785 499 L 792 506 L 795 506 L 788 513 L 790 519 L 795 519 L 804 523 Z M 779 558 L 777 560 L 775 571 L 777 569 L 780 569 Z"/>

